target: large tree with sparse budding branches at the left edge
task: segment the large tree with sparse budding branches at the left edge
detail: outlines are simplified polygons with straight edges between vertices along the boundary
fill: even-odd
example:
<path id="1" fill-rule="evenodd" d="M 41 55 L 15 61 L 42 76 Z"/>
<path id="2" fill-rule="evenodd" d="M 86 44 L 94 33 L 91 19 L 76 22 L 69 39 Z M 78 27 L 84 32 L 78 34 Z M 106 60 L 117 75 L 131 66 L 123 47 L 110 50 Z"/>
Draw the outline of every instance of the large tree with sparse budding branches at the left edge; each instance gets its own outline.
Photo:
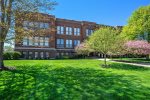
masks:
<path id="1" fill-rule="evenodd" d="M 54 5 L 56 5 L 56 2 L 52 0 L 0 0 L 0 69 L 4 68 L 4 42 L 12 39 L 15 39 L 15 42 L 17 42 L 17 40 L 23 38 L 23 34 L 26 32 L 23 27 L 21 27 L 22 25 L 18 25 L 18 23 L 22 23 L 22 21 L 25 20 L 24 17 L 28 20 L 31 20 L 33 17 L 41 18 L 41 16 L 33 16 L 31 12 L 47 12 L 47 10 L 53 9 Z M 29 18 L 26 17 L 24 13 L 27 13 Z M 27 32 L 30 36 L 33 36 L 33 33 L 36 33 L 30 31 Z M 19 35 L 16 35 L 15 33 Z"/>

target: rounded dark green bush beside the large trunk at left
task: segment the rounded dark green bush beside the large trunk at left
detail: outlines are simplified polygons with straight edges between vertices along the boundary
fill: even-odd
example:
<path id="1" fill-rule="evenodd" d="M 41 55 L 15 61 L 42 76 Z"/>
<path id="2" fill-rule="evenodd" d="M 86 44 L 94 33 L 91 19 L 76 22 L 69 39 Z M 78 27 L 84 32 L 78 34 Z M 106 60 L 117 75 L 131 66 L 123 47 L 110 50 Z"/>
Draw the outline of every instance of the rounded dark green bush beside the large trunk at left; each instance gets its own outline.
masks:
<path id="1" fill-rule="evenodd" d="M 17 60 L 21 57 L 20 52 L 4 52 L 3 57 L 5 60 Z"/>

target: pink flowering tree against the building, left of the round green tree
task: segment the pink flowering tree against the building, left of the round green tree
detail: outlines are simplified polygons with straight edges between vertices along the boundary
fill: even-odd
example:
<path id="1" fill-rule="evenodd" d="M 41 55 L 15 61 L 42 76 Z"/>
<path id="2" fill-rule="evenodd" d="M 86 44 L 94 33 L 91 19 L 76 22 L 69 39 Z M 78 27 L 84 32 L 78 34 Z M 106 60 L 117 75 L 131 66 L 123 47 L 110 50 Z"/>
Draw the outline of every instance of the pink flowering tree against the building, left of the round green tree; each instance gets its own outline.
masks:
<path id="1" fill-rule="evenodd" d="M 75 47 L 75 52 L 80 55 L 89 55 L 93 50 L 90 48 L 88 43 L 81 43 Z"/>

